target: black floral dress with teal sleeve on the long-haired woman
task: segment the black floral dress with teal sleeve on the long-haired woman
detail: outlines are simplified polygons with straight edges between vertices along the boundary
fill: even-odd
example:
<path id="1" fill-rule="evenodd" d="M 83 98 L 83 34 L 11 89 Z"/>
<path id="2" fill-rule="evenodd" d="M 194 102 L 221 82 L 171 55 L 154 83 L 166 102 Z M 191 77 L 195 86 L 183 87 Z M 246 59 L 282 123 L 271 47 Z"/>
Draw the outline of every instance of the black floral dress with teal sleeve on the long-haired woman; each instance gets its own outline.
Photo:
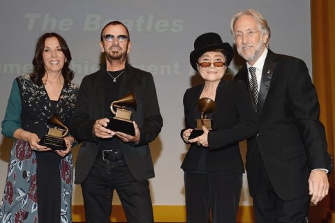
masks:
<path id="1" fill-rule="evenodd" d="M 47 121 L 57 112 L 68 125 L 78 86 L 64 85 L 58 101 L 52 101 L 45 87 L 31 82 L 30 75 L 17 77 L 8 100 L 2 133 L 13 137 L 18 128 L 43 137 Z M 73 157 L 31 151 L 29 144 L 15 139 L 0 207 L 0 222 L 72 222 L 71 199 Z"/>

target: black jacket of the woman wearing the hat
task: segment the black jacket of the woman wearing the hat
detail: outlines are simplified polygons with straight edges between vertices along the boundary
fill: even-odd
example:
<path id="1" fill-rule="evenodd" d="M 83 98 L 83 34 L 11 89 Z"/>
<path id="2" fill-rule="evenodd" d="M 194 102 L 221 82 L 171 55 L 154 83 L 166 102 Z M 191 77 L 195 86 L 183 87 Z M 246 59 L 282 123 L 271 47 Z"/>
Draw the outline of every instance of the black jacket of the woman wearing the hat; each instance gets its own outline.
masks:
<path id="1" fill-rule="evenodd" d="M 197 102 L 203 87 L 200 85 L 186 90 L 184 95 L 186 129 L 195 128 L 195 119 L 200 118 Z M 243 173 L 244 165 L 239 152 L 239 141 L 253 137 L 257 133 L 257 115 L 248 100 L 245 84 L 221 80 L 216 89 L 215 102 L 216 110 L 212 115 L 213 130 L 208 134 L 209 148 L 191 144 L 181 168 L 195 170 L 204 150 L 208 172 Z"/>

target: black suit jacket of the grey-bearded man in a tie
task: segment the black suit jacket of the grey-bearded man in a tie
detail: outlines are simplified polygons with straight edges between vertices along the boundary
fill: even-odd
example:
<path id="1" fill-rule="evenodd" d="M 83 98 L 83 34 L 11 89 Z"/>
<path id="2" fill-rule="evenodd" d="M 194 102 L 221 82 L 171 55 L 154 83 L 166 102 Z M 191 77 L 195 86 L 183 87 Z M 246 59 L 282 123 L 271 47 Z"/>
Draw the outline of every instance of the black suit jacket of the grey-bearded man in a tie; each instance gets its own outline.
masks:
<path id="1" fill-rule="evenodd" d="M 234 79 L 248 86 L 246 68 Z M 278 197 L 288 201 L 308 194 L 311 170 L 331 167 L 318 96 L 304 61 L 269 50 L 257 113 L 259 132 L 248 141 L 246 154 L 251 196 L 257 187 L 258 153 Z"/>

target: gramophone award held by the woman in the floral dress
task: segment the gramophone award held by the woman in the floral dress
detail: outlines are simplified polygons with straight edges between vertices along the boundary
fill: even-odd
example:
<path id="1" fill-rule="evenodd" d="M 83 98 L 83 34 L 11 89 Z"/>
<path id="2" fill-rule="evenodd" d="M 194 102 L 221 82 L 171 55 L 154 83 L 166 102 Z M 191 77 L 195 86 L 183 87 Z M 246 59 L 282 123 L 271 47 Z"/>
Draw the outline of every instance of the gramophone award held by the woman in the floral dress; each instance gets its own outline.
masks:
<path id="1" fill-rule="evenodd" d="M 68 134 L 68 128 L 64 123 L 61 122 L 61 118 L 55 112 L 49 121 L 47 121 L 48 132 L 40 139 L 39 144 L 42 146 L 47 146 L 54 150 L 66 151 L 66 143 L 64 137 Z M 49 125 L 54 125 L 54 128 L 50 128 Z"/>

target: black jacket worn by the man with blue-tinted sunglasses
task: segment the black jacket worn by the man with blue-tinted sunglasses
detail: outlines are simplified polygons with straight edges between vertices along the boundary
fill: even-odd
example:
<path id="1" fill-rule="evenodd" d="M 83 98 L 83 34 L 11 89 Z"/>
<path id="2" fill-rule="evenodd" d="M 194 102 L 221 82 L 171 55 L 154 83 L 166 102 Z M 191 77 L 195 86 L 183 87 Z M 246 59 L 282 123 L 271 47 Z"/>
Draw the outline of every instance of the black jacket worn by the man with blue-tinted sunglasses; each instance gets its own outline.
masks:
<path id="1" fill-rule="evenodd" d="M 82 141 L 78 152 L 75 183 L 82 183 L 91 169 L 99 150 L 99 141 L 92 133 L 97 119 L 105 118 L 105 83 L 102 70 L 82 79 L 77 96 L 77 104 L 73 112 L 70 132 Z M 153 141 L 163 126 L 163 119 L 159 112 L 154 79 L 149 72 L 144 72 L 126 64 L 124 72 L 126 81 L 121 83 L 119 98 L 134 91 L 137 109 L 132 110 L 132 120 L 140 128 L 139 144 L 126 144 L 121 142 L 122 151 L 127 166 L 135 180 L 142 181 L 154 177 L 154 167 L 151 160 L 149 142 Z"/>

